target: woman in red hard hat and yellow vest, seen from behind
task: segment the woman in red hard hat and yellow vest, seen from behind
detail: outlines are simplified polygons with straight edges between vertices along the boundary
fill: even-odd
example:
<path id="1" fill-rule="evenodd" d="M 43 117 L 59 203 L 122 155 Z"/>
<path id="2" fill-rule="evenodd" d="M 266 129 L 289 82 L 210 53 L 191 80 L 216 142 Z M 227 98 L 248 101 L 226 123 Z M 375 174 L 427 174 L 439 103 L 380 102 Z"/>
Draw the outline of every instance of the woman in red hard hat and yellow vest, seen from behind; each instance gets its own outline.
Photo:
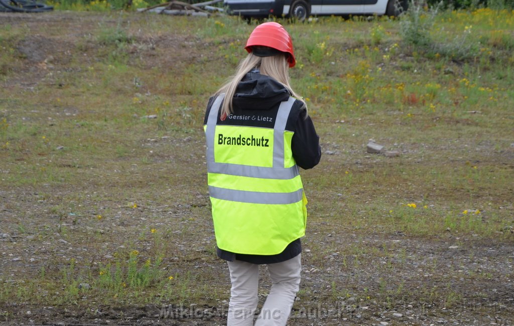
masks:
<path id="1" fill-rule="evenodd" d="M 285 325 L 300 284 L 307 200 L 298 166 L 321 158 L 305 102 L 289 85 L 296 64 L 278 23 L 252 31 L 233 78 L 209 100 L 207 169 L 217 255 L 232 283 L 228 325 L 251 325 L 259 265 L 271 290 L 255 325 Z M 227 100 L 229 99 L 229 100 Z"/>

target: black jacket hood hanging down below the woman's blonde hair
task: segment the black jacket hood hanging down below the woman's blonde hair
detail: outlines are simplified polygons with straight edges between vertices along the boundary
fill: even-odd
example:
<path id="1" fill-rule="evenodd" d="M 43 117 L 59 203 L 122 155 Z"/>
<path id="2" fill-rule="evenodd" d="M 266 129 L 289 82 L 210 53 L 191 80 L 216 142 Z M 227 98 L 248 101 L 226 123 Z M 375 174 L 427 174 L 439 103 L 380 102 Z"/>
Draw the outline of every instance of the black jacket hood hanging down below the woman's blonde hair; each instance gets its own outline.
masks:
<path id="1" fill-rule="evenodd" d="M 253 70 L 237 86 L 232 105 L 236 109 L 269 110 L 287 101 L 289 95 L 284 85 Z"/>

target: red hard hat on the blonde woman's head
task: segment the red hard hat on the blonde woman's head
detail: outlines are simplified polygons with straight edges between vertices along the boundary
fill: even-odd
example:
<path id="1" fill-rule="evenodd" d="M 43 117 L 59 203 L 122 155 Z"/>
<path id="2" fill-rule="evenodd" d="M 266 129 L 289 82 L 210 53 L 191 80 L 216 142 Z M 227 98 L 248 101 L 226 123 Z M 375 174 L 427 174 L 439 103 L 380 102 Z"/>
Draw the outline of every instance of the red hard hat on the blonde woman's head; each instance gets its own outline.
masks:
<path id="1" fill-rule="evenodd" d="M 288 53 L 287 62 L 289 63 L 289 68 L 294 67 L 296 64 L 291 35 L 279 23 L 268 22 L 255 27 L 246 42 L 245 49 L 248 53 L 252 52 L 253 46 L 267 46 Z"/>

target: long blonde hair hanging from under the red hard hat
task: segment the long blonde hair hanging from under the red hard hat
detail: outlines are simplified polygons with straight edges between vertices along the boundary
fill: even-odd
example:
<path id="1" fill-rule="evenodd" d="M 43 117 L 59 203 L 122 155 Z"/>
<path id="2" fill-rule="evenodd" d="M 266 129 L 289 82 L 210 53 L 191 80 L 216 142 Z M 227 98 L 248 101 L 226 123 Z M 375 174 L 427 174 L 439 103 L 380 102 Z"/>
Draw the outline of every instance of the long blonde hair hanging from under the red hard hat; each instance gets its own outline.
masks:
<path id="1" fill-rule="evenodd" d="M 307 109 L 303 98 L 293 91 L 289 85 L 289 63 L 287 62 L 287 57 L 283 54 L 261 57 L 250 52 L 248 56 L 239 63 L 236 73 L 232 78 L 215 93 L 215 96 L 225 93 L 225 101 L 223 101 L 223 106 L 221 107 L 222 117 L 224 115 L 228 116 L 229 113 L 233 112 L 232 98 L 234 97 L 237 85 L 241 82 L 246 73 L 253 68 L 259 68 L 261 74 L 270 76 L 284 85 L 292 97 L 302 101 L 304 108 Z M 227 101 L 227 99 L 230 99 L 230 101 Z"/>

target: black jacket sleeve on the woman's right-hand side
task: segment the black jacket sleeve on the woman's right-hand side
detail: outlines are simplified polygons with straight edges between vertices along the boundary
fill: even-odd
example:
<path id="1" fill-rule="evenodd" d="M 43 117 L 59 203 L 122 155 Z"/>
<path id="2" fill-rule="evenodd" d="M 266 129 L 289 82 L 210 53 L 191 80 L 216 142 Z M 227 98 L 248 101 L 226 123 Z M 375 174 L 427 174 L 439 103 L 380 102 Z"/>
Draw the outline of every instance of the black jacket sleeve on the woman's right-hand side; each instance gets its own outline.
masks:
<path id="1" fill-rule="evenodd" d="M 313 121 L 307 110 L 301 110 L 291 140 L 292 156 L 303 169 L 315 167 L 321 159 L 321 146 Z"/>

